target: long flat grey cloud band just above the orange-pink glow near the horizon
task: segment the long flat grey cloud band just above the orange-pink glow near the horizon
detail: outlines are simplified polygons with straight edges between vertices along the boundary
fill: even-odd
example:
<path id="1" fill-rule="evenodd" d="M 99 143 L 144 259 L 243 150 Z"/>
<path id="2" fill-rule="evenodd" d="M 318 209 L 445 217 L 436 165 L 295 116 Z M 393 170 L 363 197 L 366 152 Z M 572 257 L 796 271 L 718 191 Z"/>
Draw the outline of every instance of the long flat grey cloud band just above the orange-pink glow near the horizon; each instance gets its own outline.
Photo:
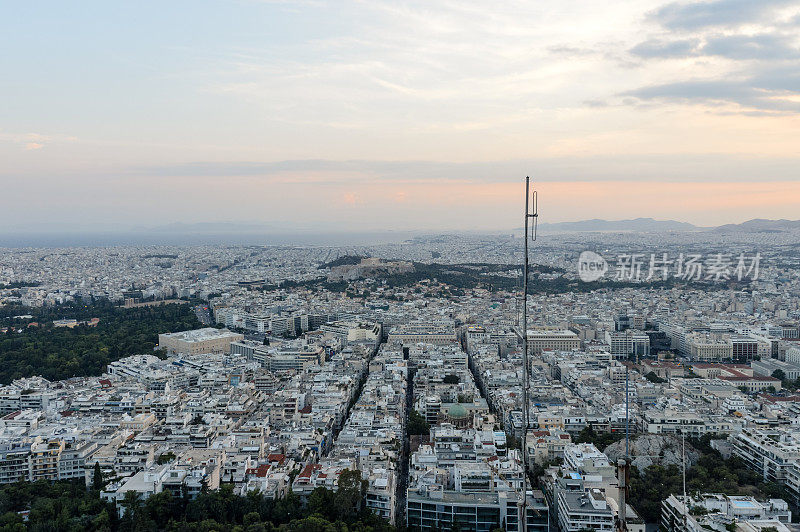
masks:
<path id="1" fill-rule="evenodd" d="M 664 90 L 660 95 L 674 94 Z M 707 92 L 712 94 L 712 90 Z M 357 192 L 352 186 L 389 186 L 395 200 L 406 192 L 405 186 L 425 183 L 502 183 L 513 176 L 520 179 L 531 175 L 534 180 L 570 182 L 591 179 L 616 179 L 638 181 L 691 181 L 702 175 L 712 181 L 748 180 L 752 175 L 770 175 L 773 179 L 796 180 L 800 159 L 765 159 L 761 152 L 753 158 L 727 155 L 682 154 L 675 161 L 669 154 L 663 155 L 595 155 L 586 157 L 540 157 L 518 160 L 494 160 L 486 162 L 447 161 L 376 161 L 376 160 L 291 160 L 274 162 L 195 162 L 185 165 L 131 168 L 126 174 L 138 179 L 161 179 L 165 182 L 205 183 L 259 183 L 273 185 L 315 185 L 319 187 L 350 186 L 345 190 L 355 199 Z M 98 179 L 103 174 L 98 174 Z M 299 187 L 303 188 L 303 187 Z M 389 194 L 387 192 L 387 194 Z M 391 195 L 390 194 L 390 195 Z M 408 195 L 406 199 L 410 199 Z"/>

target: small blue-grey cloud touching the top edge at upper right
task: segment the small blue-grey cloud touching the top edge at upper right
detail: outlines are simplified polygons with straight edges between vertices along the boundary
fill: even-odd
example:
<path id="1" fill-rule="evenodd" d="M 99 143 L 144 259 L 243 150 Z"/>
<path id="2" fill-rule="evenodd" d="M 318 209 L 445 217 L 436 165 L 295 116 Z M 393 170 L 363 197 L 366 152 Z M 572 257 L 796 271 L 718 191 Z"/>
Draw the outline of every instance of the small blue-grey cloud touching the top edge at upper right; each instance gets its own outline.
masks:
<path id="1" fill-rule="evenodd" d="M 710 2 L 672 2 L 650 14 L 650 18 L 671 30 L 697 30 L 708 27 L 736 27 L 758 22 L 793 0 L 713 0 Z"/>

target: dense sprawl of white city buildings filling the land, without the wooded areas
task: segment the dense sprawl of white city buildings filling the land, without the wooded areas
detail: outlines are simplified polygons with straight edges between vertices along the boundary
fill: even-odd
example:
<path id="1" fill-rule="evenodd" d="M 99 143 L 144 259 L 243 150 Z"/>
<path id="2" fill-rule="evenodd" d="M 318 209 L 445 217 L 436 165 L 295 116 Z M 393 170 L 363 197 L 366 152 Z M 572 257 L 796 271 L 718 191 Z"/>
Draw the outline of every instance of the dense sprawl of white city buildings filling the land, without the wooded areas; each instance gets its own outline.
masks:
<path id="1" fill-rule="evenodd" d="M 697 245 L 693 238 L 701 237 L 659 244 L 678 249 Z M 726 238 L 716 245 L 753 245 Z M 366 506 L 393 524 L 521 530 L 525 519 L 541 532 L 610 532 L 621 515 L 617 468 L 601 449 L 575 443 L 582 431 L 711 434 L 789 500 L 675 493 L 660 525 L 788 531 L 788 505 L 800 502 L 800 395 L 782 388 L 800 377 L 800 270 L 786 259 L 796 244 L 784 238 L 762 239 L 760 278 L 746 288 L 532 294 L 527 438 L 516 290 L 393 285 L 376 273 L 380 261 L 355 273 L 319 269 L 345 254 L 398 259 L 398 274 L 410 261 L 515 264 L 518 239 L 9 250 L 0 286 L 35 286 L 0 289 L 0 304 L 184 298 L 206 327 L 162 334 L 159 353 L 122 358 L 101 376 L 0 387 L 0 483 L 91 484 L 98 464 L 110 501 L 131 491 L 192 496 L 221 483 L 306 498 L 358 470 Z M 574 288 L 579 247 L 570 242 L 545 241 L 537 262 L 556 268 L 539 275 Z M 642 240 L 622 235 L 616 245 L 630 252 Z M 314 284 L 332 271 L 330 282 L 347 278 L 346 290 Z M 417 414 L 429 431 L 409 437 Z M 527 493 L 523 453 L 540 474 Z M 635 507 L 622 513 L 629 530 L 644 531 Z"/>

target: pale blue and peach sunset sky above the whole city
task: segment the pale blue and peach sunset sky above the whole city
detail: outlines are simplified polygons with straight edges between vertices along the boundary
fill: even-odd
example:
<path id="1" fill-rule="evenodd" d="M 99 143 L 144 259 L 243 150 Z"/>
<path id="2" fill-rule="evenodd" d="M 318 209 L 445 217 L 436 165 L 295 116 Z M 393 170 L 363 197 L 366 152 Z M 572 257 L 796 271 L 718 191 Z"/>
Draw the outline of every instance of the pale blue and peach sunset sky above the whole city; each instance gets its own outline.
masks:
<path id="1" fill-rule="evenodd" d="M 0 227 L 800 218 L 796 0 L 6 2 Z"/>

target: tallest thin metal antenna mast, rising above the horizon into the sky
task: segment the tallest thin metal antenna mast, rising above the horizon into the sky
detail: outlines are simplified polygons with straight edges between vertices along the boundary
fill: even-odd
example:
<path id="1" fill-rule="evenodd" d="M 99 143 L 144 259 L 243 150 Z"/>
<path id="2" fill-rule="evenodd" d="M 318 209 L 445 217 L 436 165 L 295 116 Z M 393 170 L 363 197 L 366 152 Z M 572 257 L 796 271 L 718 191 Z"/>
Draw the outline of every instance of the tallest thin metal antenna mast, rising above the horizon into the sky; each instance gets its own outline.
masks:
<path id="1" fill-rule="evenodd" d="M 533 204 L 533 205 L 531 205 Z M 532 209 L 531 209 L 532 207 Z M 528 234 L 531 219 L 533 219 L 532 240 L 536 240 L 536 229 L 539 218 L 539 201 L 536 191 L 531 195 L 531 178 L 525 176 L 525 263 L 522 269 L 522 511 L 520 521 L 522 532 L 528 529 L 528 428 L 530 427 L 530 404 L 528 388 L 530 367 L 528 365 Z"/>

